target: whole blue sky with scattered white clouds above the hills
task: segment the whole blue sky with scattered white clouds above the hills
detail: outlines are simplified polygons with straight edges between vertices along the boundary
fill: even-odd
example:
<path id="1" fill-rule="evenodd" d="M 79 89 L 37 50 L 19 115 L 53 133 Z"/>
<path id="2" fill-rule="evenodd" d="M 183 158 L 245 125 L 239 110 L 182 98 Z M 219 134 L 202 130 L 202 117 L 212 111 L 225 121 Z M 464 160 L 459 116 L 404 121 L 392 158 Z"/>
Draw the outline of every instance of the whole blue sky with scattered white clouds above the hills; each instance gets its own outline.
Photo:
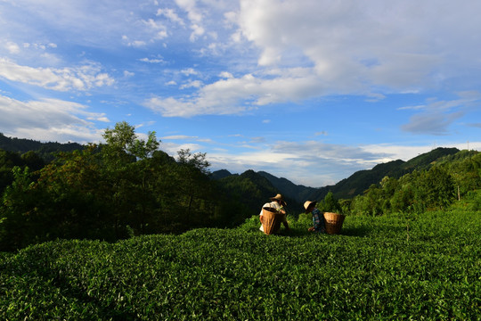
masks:
<path id="1" fill-rule="evenodd" d="M 331 185 L 481 151 L 477 0 L 0 0 L 0 132 L 100 142 L 126 120 L 211 170 Z"/>

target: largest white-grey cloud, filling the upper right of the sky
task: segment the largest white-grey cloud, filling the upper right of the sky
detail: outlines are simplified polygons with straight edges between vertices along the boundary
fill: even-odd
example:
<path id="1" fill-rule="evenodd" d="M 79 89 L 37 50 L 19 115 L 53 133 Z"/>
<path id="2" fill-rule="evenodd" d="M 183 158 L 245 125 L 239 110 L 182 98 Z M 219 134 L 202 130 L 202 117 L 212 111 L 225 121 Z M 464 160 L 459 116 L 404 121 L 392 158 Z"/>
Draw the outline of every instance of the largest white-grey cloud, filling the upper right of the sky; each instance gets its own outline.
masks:
<path id="1" fill-rule="evenodd" d="M 185 0 L 177 4 L 186 12 L 199 13 L 192 13 L 192 17 L 199 18 L 191 19 L 195 23 L 199 23 L 200 16 L 206 16 L 200 13 L 199 3 Z M 156 97 L 158 102 L 174 103 L 172 108 L 161 103 L 157 110 L 165 116 L 230 114 L 326 95 L 365 95 L 367 102 L 376 103 L 392 93 L 417 93 L 439 86 L 441 73 L 444 79 L 457 75 L 456 68 L 440 71 L 443 66 L 465 63 L 447 60 L 450 54 L 456 54 L 450 44 L 470 48 L 472 41 L 453 28 L 452 19 L 440 24 L 437 16 L 429 13 L 433 4 L 240 0 L 239 11 L 224 12 L 223 23 L 237 23 L 234 34 L 257 47 L 261 68 L 237 78 L 224 70 L 218 74 L 223 79 L 204 81 L 205 86 L 198 86 L 194 95 Z M 464 4 L 455 7 L 444 1 L 436 6 L 439 14 L 449 15 L 451 10 L 458 17 L 471 12 Z M 461 29 L 469 29 L 467 24 L 481 28 L 481 22 L 469 21 L 461 22 Z M 436 37 L 444 41 L 436 42 Z M 475 52 L 481 54 L 481 45 Z M 255 67 L 249 65 L 246 69 Z M 182 72 L 189 75 L 187 70 Z M 194 105 L 200 108 L 195 110 Z"/>

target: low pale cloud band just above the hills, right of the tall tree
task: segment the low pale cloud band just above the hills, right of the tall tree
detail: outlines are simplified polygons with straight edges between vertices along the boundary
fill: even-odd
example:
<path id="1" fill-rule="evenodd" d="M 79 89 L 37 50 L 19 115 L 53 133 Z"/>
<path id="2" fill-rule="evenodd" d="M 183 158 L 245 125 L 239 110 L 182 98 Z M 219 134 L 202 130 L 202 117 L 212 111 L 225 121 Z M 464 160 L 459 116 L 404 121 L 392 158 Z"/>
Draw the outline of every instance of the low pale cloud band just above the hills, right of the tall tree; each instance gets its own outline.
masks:
<path id="1" fill-rule="evenodd" d="M 240 135 L 232 135 L 239 137 Z M 295 184 L 314 187 L 334 185 L 350 177 L 358 170 L 372 169 L 379 163 L 403 160 L 409 161 L 421 153 L 436 147 L 466 149 L 467 143 L 439 142 L 439 144 L 326 144 L 318 141 L 269 142 L 265 137 L 252 137 L 249 142 L 240 140 L 234 145 L 220 148 L 218 142 L 210 139 L 206 143 L 199 136 L 175 135 L 162 137 L 161 149 L 175 156 L 181 148 L 192 152 L 207 152 L 211 170 L 228 169 L 242 173 L 248 169 L 265 170 L 276 177 L 285 177 Z M 167 143 L 166 143 L 167 141 Z M 183 144 L 174 141 L 183 141 Z M 197 142 L 197 143 L 194 143 Z M 209 148 L 215 144 L 214 148 Z M 481 150 L 481 142 L 469 142 L 469 149 Z M 239 152 L 232 152 L 235 148 Z"/>

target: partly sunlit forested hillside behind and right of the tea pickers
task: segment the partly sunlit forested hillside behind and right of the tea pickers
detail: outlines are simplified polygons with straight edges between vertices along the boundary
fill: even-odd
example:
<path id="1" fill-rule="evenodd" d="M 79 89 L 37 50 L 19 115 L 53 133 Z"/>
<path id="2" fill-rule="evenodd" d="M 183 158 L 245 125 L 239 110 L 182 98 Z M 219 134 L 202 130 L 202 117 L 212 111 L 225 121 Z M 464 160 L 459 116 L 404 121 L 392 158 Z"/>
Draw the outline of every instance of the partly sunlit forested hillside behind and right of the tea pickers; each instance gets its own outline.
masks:
<path id="1" fill-rule="evenodd" d="M 249 176 L 255 174 L 249 172 Z M 221 180 L 239 177 L 229 174 L 224 170 L 218 175 L 224 177 Z M 326 197 L 334 197 L 345 214 L 443 210 L 461 198 L 470 201 L 470 210 L 481 209 L 481 153 L 477 151 L 440 147 L 409 161 L 389 161 L 357 171 L 336 185 L 321 188 L 294 185 L 265 172 L 257 175 L 298 203 L 314 200 L 322 204 Z"/>

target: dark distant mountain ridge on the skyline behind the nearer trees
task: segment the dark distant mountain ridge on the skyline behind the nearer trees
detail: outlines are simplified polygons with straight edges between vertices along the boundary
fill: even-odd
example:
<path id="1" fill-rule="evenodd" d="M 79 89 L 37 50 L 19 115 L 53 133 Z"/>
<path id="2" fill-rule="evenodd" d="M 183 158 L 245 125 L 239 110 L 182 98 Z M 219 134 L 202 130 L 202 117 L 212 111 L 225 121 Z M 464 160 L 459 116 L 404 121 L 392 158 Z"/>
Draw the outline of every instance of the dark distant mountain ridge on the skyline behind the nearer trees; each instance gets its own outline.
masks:
<path id="1" fill-rule="evenodd" d="M 71 152 L 83 149 L 85 146 L 77 143 L 42 143 L 23 138 L 10 138 L 0 133 L 0 149 L 10 152 L 34 151 L 41 155 L 45 161 L 53 159 L 53 152 Z M 282 193 L 290 203 L 302 204 L 306 200 L 322 200 L 330 191 L 338 199 L 350 199 L 362 194 L 372 184 L 378 184 L 383 177 L 399 178 L 414 170 L 429 169 L 436 161 L 460 152 L 457 148 L 439 147 L 412 158 L 409 161 L 388 161 L 376 165 L 372 169 L 356 171 L 350 177 L 340 180 L 335 185 L 320 188 L 305 185 L 296 185 L 284 177 L 275 177 L 265 171 L 255 172 L 252 169 L 242 174 L 232 174 L 227 169 L 220 169 L 210 174 L 211 179 L 219 181 L 227 190 L 232 189 L 232 197 L 237 197 L 243 202 L 262 203 L 276 193 Z"/>

